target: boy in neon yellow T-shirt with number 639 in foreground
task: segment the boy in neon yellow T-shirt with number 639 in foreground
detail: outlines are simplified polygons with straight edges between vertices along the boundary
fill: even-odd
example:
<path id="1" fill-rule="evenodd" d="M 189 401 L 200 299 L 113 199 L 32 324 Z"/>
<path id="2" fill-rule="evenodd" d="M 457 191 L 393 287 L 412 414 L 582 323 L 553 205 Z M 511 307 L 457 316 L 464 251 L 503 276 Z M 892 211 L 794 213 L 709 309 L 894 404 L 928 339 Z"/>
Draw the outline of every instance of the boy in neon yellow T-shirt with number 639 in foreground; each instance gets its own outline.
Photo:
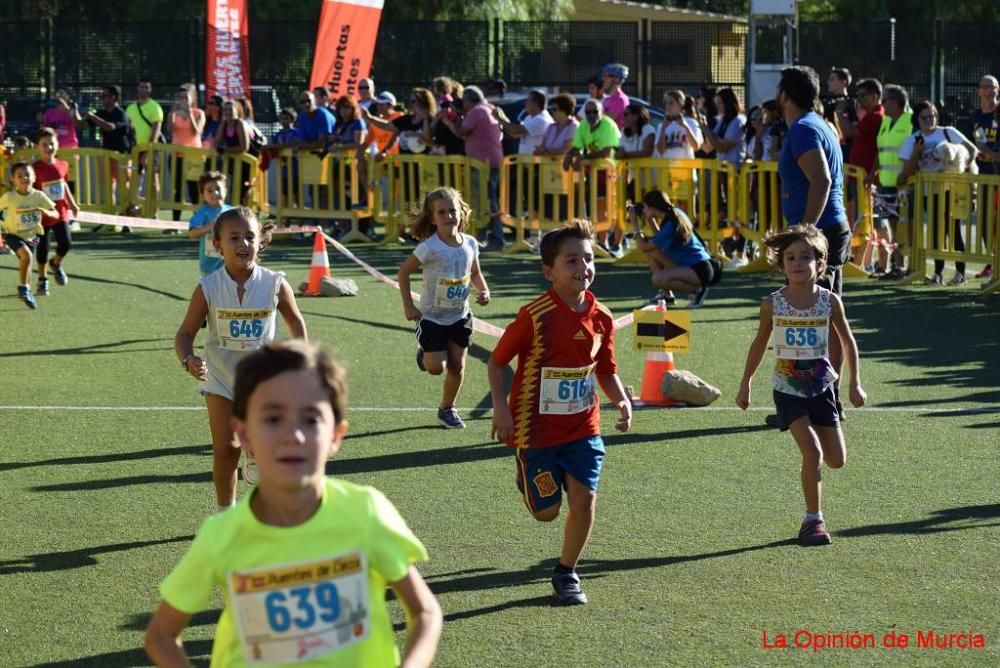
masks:
<path id="1" fill-rule="evenodd" d="M 414 562 L 427 559 L 380 492 L 327 478 L 347 432 L 339 365 L 301 340 L 268 344 L 236 368 L 233 428 L 259 482 L 209 517 L 160 585 L 146 631 L 158 666 L 186 666 L 181 633 L 225 596 L 213 666 L 397 666 L 385 587 L 406 609 L 403 666 L 429 666 L 441 608 Z"/>

